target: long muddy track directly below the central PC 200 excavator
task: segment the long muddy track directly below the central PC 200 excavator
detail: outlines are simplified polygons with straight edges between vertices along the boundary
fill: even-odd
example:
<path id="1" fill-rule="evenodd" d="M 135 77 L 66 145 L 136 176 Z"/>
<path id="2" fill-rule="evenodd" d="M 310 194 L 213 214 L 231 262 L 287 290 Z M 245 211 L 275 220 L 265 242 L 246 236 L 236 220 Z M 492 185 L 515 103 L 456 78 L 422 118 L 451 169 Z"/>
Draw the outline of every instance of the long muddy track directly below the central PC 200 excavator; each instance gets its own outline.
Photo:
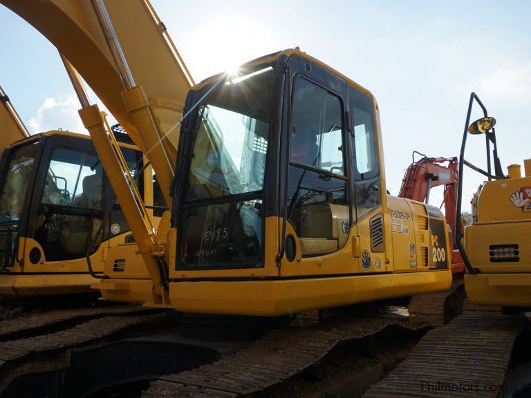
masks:
<path id="1" fill-rule="evenodd" d="M 258 392 L 297 375 L 317 363 L 337 345 L 369 337 L 392 325 L 420 330 L 404 317 L 375 316 L 324 319 L 303 317 L 287 328 L 272 330 L 262 339 L 229 357 L 193 370 L 153 381 L 142 398 L 240 397 Z"/>

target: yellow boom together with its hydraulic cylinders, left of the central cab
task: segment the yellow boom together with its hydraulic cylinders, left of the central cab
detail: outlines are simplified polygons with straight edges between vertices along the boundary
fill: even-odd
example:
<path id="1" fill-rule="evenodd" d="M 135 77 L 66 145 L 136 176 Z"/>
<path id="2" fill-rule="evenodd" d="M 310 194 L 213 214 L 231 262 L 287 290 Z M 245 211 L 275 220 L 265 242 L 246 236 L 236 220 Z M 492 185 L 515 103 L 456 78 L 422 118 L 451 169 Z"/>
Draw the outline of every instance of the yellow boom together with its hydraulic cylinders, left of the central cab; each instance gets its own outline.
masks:
<path id="1" fill-rule="evenodd" d="M 171 207 L 170 185 L 176 167 L 179 121 L 186 93 L 194 82 L 149 1 L 6 0 L 2 3 L 37 28 L 68 60 L 65 64 L 78 96 L 81 81 L 77 72 L 82 75 L 151 162 L 162 194 Z M 84 126 L 91 133 L 139 245 L 154 282 L 153 293 L 160 297 L 160 260 L 167 258 L 167 253 L 124 176 L 124 165 L 120 164 L 105 131 L 100 110 L 88 104 L 84 97 L 80 111 Z M 169 218 L 161 224 L 167 231 Z"/>

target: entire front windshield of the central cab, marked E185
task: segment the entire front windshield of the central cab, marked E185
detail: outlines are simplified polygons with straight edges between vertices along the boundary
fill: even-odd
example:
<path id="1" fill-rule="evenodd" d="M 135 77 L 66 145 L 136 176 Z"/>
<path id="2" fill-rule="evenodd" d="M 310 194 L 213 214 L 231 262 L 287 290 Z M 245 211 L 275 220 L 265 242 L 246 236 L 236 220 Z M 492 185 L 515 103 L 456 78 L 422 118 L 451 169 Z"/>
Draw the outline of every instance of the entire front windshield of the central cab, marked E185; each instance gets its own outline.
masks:
<path id="1" fill-rule="evenodd" d="M 218 86 L 198 107 L 181 218 L 186 266 L 256 263 L 274 69 Z"/>

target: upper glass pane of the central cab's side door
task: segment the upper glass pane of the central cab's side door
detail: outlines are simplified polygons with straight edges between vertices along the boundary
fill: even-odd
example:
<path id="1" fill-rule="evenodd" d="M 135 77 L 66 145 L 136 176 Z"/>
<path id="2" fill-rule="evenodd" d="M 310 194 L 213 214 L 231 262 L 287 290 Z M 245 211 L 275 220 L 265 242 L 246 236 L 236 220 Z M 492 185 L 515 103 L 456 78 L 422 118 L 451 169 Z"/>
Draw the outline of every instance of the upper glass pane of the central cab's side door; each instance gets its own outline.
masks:
<path id="1" fill-rule="evenodd" d="M 291 162 L 344 175 L 341 102 L 306 79 L 295 81 Z"/>

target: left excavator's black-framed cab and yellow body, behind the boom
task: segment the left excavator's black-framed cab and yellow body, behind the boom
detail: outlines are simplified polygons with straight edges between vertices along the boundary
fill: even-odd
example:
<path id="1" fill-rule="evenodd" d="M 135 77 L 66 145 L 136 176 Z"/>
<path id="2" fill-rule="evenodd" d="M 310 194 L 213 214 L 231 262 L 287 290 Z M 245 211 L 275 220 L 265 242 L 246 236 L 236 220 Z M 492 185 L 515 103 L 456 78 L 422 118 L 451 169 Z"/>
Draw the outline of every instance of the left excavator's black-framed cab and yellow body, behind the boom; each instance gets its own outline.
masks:
<path id="1" fill-rule="evenodd" d="M 131 144 L 120 145 L 143 192 L 142 153 Z M 152 190 L 147 191 L 152 197 Z M 101 273 L 111 248 L 127 245 L 128 239 L 131 243 L 129 235 L 88 136 L 50 131 L 3 151 L 0 294 L 93 292 L 86 257 L 91 258 L 94 272 Z M 136 246 L 129 246 L 134 257 Z"/>

